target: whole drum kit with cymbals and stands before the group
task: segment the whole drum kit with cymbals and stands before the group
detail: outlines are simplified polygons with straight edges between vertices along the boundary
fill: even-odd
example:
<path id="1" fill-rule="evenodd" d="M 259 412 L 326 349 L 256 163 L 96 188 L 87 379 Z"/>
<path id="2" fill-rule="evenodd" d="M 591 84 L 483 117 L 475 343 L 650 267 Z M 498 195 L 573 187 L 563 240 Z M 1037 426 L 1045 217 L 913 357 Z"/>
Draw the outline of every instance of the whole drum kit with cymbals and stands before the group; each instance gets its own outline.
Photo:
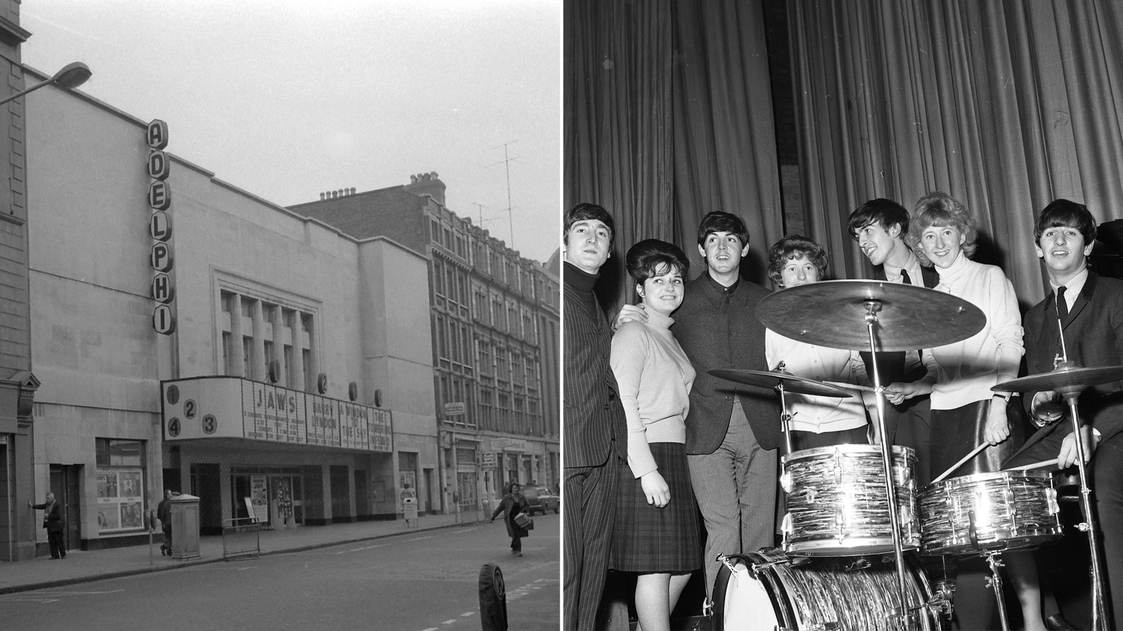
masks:
<path id="1" fill-rule="evenodd" d="M 800 377 L 774 371 L 714 369 L 732 382 L 773 387 L 780 394 L 786 455 L 780 487 L 787 512 L 783 549 L 722 556 L 713 589 L 713 615 L 723 629 L 933 630 L 951 613 L 951 591 L 933 588 L 928 565 L 940 556 L 983 556 L 1004 630 L 1006 618 L 998 569 L 1004 550 L 1032 549 L 1061 536 L 1053 478 L 1028 467 L 943 479 L 917 492 L 911 448 L 839 445 L 792 451 L 786 393 L 853 396 L 852 390 L 884 392 L 876 356 L 932 348 L 980 331 L 986 317 L 974 304 L 933 290 L 879 281 L 829 281 L 769 294 L 757 309 L 769 329 L 830 348 L 869 350 L 874 387 Z M 1062 336 L 1063 337 L 1063 336 Z M 1123 381 L 1123 366 L 1083 368 L 1059 360 L 1051 373 L 1008 381 L 996 392 L 1056 391 L 1078 427 L 1076 401 L 1093 385 Z M 879 436 L 886 436 L 885 397 L 877 397 Z M 1085 447 L 1076 433 L 1084 523 L 1092 549 L 1093 629 L 1103 620 L 1103 582 L 1096 528 L 1085 475 Z M 986 447 L 986 443 L 975 450 Z M 970 456 L 970 455 L 969 455 Z M 967 458 L 965 458 L 966 460 Z M 1046 467 L 1056 460 L 1038 463 Z M 894 501 L 889 501 L 889 499 Z M 909 556 L 905 551 L 910 551 Z"/>

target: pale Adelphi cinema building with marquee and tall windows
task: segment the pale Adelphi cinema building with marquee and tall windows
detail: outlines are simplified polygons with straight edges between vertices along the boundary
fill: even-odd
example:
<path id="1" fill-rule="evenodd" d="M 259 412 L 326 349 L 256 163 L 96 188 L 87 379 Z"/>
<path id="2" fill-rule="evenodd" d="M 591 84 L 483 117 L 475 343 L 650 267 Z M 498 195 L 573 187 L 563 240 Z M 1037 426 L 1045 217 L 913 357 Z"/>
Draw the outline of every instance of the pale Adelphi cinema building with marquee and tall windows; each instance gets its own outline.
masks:
<path id="1" fill-rule="evenodd" d="M 439 510 L 427 253 L 217 179 L 174 126 L 26 110 L 35 493 L 70 546 L 147 540 L 163 488 L 204 534 L 395 519 L 402 481 Z"/>

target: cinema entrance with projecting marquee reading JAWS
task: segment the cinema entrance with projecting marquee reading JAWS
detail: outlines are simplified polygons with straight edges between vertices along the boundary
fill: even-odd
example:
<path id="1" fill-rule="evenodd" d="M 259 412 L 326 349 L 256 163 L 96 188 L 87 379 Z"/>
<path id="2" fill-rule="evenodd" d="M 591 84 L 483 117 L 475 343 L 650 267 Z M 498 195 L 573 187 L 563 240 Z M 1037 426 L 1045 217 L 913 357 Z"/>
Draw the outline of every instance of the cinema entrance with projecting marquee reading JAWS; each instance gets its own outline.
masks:
<path id="1" fill-rule="evenodd" d="M 165 479 L 189 481 L 200 530 L 394 519 L 389 410 L 239 377 L 164 381 Z M 395 475 L 398 474 L 398 475 Z"/>

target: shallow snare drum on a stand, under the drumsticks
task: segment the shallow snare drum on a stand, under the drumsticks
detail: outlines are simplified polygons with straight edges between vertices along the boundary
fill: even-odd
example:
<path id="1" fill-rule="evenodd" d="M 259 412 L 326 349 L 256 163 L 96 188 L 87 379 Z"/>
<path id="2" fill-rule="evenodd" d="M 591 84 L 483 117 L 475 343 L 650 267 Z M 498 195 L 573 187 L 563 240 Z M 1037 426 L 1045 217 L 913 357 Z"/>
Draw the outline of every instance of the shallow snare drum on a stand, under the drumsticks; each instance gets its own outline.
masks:
<path id="1" fill-rule="evenodd" d="M 1061 536 L 1052 474 L 1010 470 L 952 477 L 920 495 L 925 555 L 1039 546 Z"/>

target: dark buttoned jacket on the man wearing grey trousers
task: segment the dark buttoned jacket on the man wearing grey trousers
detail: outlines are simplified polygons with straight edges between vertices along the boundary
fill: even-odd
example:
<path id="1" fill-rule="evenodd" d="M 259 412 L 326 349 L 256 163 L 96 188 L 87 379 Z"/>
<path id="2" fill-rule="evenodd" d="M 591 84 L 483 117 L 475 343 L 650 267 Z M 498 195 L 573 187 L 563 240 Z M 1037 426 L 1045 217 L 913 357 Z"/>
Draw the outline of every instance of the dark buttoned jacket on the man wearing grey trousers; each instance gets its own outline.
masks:
<path id="1" fill-rule="evenodd" d="M 729 430 L 733 396 L 741 401 L 757 442 L 765 449 L 779 446 L 779 397 L 768 388 L 740 385 L 706 373 L 713 368 L 767 371 L 765 326 L 757 303 L 768 290 L 741 278 L 729 304 L 704 272 L 686 283 L 683 305 L 670 328 L 697 372 L 686 415 L 686 452 L 712 454 Z"/>

